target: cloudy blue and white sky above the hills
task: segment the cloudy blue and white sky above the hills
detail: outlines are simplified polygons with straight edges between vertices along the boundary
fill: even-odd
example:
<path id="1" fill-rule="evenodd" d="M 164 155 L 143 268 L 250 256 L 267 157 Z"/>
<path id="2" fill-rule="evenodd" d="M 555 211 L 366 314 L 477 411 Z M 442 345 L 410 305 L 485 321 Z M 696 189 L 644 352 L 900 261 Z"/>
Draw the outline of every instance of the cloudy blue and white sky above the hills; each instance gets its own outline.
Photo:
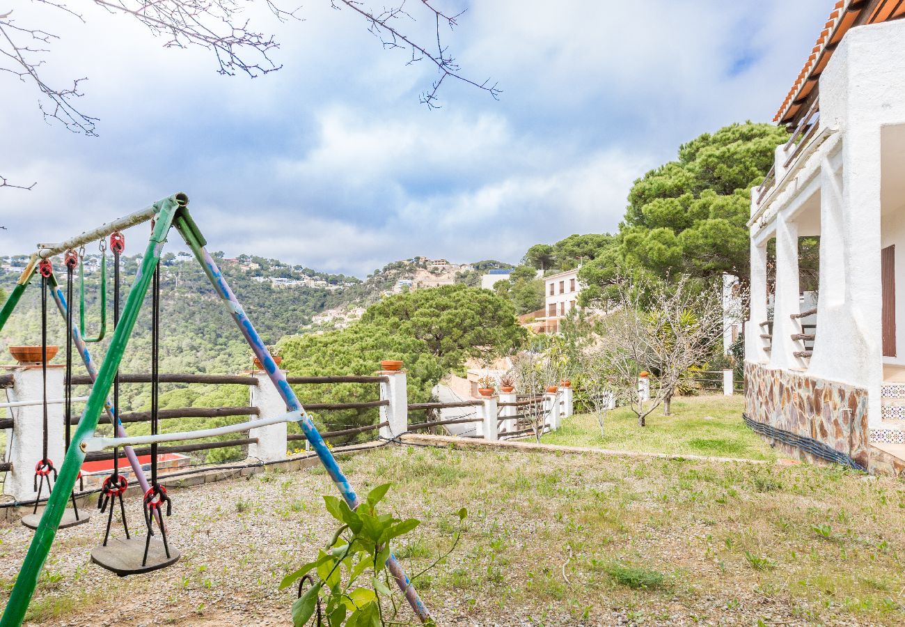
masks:
<path id="1" fill-rule="evenodd" d="M 100 118 L 96 138 L 48 125 L 33 83 L 0 73 L 0 175 L 37 181 L 0 188 L 0 254 L 184 190 L 212 250 L 366 275 L 414 255 L 516 262 L 538 242 L 614 230 L 633 180 L 682 141 L 772 119 L 833 2 L 467 3 L 447 43 L 464 74 L 503 92 L 448 82 L 435 111 L 418 99 L 433 67 L 383 51 L 329 0 L 288 24 L 249 12 L 283 64 L 253 80 L 76 4 L 87 24 L 0 0 L 60 36 L 45 80 L 89 77 L 78 104 Z M 429 37 L 408 5 L 418 21 L 404 25 Z"/>

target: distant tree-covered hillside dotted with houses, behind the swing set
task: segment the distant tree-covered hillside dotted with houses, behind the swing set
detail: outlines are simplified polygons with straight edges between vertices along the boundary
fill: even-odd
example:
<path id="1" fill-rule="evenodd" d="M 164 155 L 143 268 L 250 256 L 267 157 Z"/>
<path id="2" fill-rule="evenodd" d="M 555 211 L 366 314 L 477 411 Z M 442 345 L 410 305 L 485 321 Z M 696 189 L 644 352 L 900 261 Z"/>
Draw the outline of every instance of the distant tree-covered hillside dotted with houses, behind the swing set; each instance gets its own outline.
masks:
<path id="1" fill-rule="evenodd" d="M 344 326 L 344 323 L 331 322 L 312 326 L 312 318 L 324 312 L 343 314 L 349 310 L 363 311 L 368 304 L 374 304 L 384 294 L 409 289 L 406 281 L 414 280 L 411 288 L 427 285 L 446 285 L 457 281 L 457 274 L 476 272 L 472 265 L 447 264 L 443 267 L 432 265 L 426 257 L 398 261 L 387 264 L 367 276 L 366 280 L 346 275 L 321 273 L 300 265 L 289 265 L 278 259 L 265 259 L 259 256 L 242 255 L 235 258 L 224 258 L 221 253 L 214 253 L 224 275 L 238 295 L 245 311 L 261 333 L 264 342 L 275 344 L 285 335 L 321 331 L 332 326 Z M 0 257 L 0 288 L 8 294 L 14 287 L 15 280 L 24 265 L 26 256 Z M 86 257 L 86 332 L 97 333 L 100 326 L 99 304 L 99 271 L 100 256 Z M 140 256 L 123 256 L 123 301 L 128 293 L 129 285 L 138 269 Z M 186 253 L 174 255 L 168 253 L 162 258 L 161 293 L 163 304 L 161 309 L 161 364 L 163 372 L 207 372 L 221 373 L 241 371 L 250 367 L 251 350 L 244 342 L 242 335 L 235 327 L 223 304 L 215 296 L 195 259 Z M 108 294 L 112 299 L 112 260 L 109 259 Z M 482 267 L 488 263 L 502 266 L 500 262 L 480 262 L 474 266 Z M 56 267 L 58 280 L 65 281 L 62 267 Z M 461 278 L 461 277 L 459 277 Z M 400 283 L 402 282 L 402 283 Z M 2 332 L 0 332 L 0 351 L 7 354 L 6 346 L 10 344 L 40 343 L 41 340 L 41 300 L 38 282 L 25 293 L 22 302 L 16 308 Z M 76 279 L 76 299 L 78 300 L 78 279 Z M 149 370 L 150 353 L 150 301 L 138 317 L 138 323 L 132 341 L 124 356 L 122 371 L 142 372 Z M 61 316 L 56 312 L 52 302 L 48 324 L 49 343 L 61 345 L 65 342 L 65 326 Z M 95 355 L 102 355 L 110 340 L 112 327 L 112 304 L 108 304 L 108 336 L 103 342 L 90 344 Z M 340 316 L 338 320 L 344 320 Z M 62 363 L 62 352 L 55 363 Z M 7 354 L 5 362 L 9 362 Z M 76 371 L 81 373 L 81 363 Z M 164 391 L 174 391 L 180 386 L 165 386 Z M 200 386 L 196 386 L 200 387 Z M 148 403 L 147 386 L 124 386 L 122 391 L 123 410 L 141 410 Z M 199 404 L 207 406 L 229 404 L 229 399 L 222 394 L 218 398 L 205 398 L 204 390 Z M 213 391 L 212 391 L 213 392 Z M 237 399 L 244 391 L 237 391 Z M 184 394 L 177 395 L 179 398 Z M 220 398 L 223 397 L 223 398 Z M 162 400 L 164 405 L 169 405 Z M 186 399 L 182 400 L 186 402 Z M 242 402 L 236 404 L 243 404 Z M 177 405 L 173 405 L 174 407 Z M 181 406 L 185 406 L 184 404 Z"/>

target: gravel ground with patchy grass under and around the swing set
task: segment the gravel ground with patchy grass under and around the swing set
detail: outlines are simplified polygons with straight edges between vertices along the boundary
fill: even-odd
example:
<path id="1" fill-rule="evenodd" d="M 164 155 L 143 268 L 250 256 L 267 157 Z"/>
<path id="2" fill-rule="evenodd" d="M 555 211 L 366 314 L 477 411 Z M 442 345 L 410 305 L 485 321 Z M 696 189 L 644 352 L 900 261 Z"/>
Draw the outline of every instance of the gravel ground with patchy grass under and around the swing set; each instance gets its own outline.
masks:
<path id="1" fill-rule="evenodd" d="M 385 511 L 424 520 L 399 550 L 410 573 L 450 545 L 454 512 L 469 507 L 462 544 L 422 586 L 438 624 L 905 624 L 905 503 L 893 479 L 395 446 L 341 464 L 360 491 L 395 482 Z M 90 564 L 105 523 L 95 513 L 57 535 L 26 624 L 290 625 L 293 595 L 278 584 L 332 534 L 320 496 L 333 493 L 319 468 L 172 490 L 169 537 L 182 559 L 127 579 Z M 138 527 L 140 505 L 129 501 Z M 838 538 L 812 537 L 809 521 L 844 507 Z M 30 539 L 23 526 L 0 527 L 4 597 Z M 746 554 L 767 561 L 756 567 Z M 664 584 L 619 584 L 606 572 L 612 560 L 662 573 Z"/>

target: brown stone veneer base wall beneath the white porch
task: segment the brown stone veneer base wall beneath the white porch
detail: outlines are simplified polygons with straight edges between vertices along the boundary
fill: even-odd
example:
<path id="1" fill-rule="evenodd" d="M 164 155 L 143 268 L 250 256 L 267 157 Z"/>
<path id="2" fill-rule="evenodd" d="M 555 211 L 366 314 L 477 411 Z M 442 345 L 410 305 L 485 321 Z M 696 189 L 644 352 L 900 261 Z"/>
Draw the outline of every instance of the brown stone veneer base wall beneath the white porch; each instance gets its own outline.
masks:
<path id="1" fill-rule="evenodd" d="M 816 439 L 864 468 L 871 466 L 867 390 L 863 388 L 745 362 L 745 410 L 751 420 Z M 803 450 L 781 442 L 776 445 L 808 461 L 819 461 Z"/>

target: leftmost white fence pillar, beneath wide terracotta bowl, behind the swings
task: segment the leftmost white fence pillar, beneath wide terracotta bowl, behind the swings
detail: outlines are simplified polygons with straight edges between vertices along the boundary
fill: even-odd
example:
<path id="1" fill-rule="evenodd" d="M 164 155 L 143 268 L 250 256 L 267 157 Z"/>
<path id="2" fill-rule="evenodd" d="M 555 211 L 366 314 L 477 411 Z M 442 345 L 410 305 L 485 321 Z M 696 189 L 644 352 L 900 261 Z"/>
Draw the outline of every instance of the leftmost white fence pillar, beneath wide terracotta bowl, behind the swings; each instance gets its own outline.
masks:
<path id="1" fill-rule="evenodd" d="M 43 399 L 43 377 L 41 366 L 12 366 L 5 368 L 13 375 L 13 387 L 8 390 L 9 400 Z M 62 365 L 47 366 L 47 398 L 61 399 L 63 396 Z M 62 404 L 47 406 L 47 457 L 53 462 L 57 472 L 62 468 L 64 430 Z M 28 500 L 36 496 L 34 491 L 34 465 L 43 453 L 43 405 L 15 407 L 6 410 L 13 419 L 13 429 L 6 431 L 6 458 L 13 463 L 13 469 L 6 476 L 4 494 L 17 500 Z M 75 427 L 72 427 L 73 431 Z M 52 475 L 51 475 L 52 477 Z M 42 497 L 47 496 L 44 486 Z"/>

